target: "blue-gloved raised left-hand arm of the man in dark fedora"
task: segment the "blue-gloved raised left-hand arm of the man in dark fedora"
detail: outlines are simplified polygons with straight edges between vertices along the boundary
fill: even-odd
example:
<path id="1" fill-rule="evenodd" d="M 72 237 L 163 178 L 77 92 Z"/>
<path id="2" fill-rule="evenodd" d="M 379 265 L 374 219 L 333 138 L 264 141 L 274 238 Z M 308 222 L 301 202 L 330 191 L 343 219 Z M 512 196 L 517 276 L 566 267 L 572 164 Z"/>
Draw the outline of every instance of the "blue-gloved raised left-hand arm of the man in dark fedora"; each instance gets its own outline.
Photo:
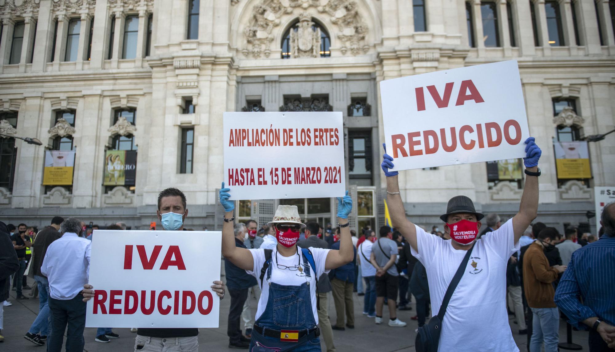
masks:
<path id="1" fill-rule="evenodd" d="M 384 157 L 381 166 L 386 176 L 386 200 L 389 207 L 389 215 L 391 215 L 391 225 L 397 228 L 397 231 L 403 234 L 403 237 L 410 243 L 410 246 L 418 252 L 415 224 L 406 218 L 406 210 L 403 208 L 402 196 L 399 193 L 399 182 L 397 180 L 399 172 L 389 171 L 393 167 L 393 158 L 386 154 L 386 145 L 384 143 L 383 147 Z"/>

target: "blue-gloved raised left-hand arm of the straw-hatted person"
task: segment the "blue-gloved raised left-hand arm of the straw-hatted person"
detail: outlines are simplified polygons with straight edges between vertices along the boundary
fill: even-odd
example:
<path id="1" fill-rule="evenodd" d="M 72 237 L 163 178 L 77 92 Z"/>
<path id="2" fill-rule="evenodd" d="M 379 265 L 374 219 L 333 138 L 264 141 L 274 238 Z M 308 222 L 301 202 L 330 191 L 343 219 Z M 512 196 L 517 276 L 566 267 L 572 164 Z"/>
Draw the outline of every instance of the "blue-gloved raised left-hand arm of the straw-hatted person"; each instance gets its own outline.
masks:
<path id="1" fill-rule="evenodd" d="M 224 218 L 232 218 L 235 205 L 229 201 L 231 188 L 224 188 L 224 182 L 220 190 L 220 204 L 224 207 Z M 235 233 L 233 232 L 233 222 L 224 222 L 222 225 L 222 255 L 234 265 L 243 270 L 254 269 L 254 257 L 250 250 L 235 246 Z"/>

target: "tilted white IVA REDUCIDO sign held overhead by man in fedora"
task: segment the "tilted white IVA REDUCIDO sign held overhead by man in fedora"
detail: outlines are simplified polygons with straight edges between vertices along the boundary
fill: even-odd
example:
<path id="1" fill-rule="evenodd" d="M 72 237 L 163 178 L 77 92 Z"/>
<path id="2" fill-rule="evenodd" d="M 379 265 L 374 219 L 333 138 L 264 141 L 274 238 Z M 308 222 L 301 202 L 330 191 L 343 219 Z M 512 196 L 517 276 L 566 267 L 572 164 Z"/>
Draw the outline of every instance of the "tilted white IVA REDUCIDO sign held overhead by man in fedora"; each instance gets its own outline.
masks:
<path id="1" fill-rule="evenodd" d="M 394 170 L 525 157 L 515 60 L 387 79 L 380 94 Z"/>

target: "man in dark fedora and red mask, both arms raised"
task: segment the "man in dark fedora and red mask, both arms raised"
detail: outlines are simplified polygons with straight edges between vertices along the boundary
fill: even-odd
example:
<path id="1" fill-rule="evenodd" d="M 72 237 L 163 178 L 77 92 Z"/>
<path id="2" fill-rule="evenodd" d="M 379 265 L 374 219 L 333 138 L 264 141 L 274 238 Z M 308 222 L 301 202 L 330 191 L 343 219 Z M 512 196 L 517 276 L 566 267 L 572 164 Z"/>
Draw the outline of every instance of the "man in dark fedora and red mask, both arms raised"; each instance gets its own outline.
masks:
<path id="1" fill-rule="evenodd" d="M 407 239 L 411 253 L 426 268 L 432 310 L 438 312 L 446 289 L 467 250 L 464 274 L 446 308 L 438 345 L 439 351 L 518 351 L 506 312 L 506 264 L 519 249 L 519 238 L 538 212 L 538 160 L 541 150 L 530 137 L 525 141 L 525 188 L 519 212 L 498 230 L 477 239 L 483 214 L 472 199 L 454 196 L 440 219 L 451 239 L 426 233 L 406 218 L 393 158 L 384 154 L 382 168 L 387 177 L 387 203 L 392 225 Z M 386 152 L 386 150 L 385 150 Z"/>

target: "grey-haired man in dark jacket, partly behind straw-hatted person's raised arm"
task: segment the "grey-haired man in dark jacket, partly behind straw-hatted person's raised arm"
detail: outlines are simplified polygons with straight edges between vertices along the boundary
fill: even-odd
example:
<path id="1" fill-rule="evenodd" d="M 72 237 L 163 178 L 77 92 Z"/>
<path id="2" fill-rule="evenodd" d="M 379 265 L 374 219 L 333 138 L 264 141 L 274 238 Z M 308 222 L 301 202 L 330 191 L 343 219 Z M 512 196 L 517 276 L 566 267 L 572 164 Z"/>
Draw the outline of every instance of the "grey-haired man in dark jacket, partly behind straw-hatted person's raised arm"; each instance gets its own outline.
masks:
<path id="1" fill-rule="evenodd" d="M 233 227 L 235 233 L 235 246 L 247 248 L 244 244 L 247 228 L 243 223 L 236 223 Z M 250 346 L 250 339 L 244 337 L 240 327 L 241 313 L 248 298 L 248 289 L 258 285 L 256 278 L 248 275 L 245 270 L 234 265 L 224 258 L 224 271 L 226 272 L 226 286 L 231 295 L 231 308 L 229 308 L 228 326 L 226 334 L 229 337 L 229 348 L 246 349 Z"/>

